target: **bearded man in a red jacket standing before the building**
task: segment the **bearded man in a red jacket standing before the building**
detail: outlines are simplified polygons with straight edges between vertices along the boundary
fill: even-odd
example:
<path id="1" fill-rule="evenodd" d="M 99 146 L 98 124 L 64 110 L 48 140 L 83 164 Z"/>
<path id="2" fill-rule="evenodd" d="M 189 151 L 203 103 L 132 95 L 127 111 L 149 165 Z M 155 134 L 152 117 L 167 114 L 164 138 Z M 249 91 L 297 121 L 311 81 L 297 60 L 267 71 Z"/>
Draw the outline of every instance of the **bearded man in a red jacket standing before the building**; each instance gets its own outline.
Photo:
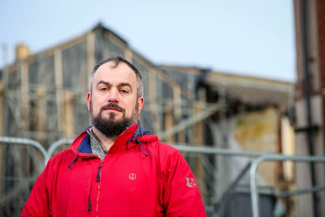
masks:
<path id="1" fill-rule="evenodd" d="M 90 75 L 92 127 L 56 154 L 21 216 L 205 216 L 194 176 L 175 148 L 140 127 L 143 83 L 120 56 Z"/>

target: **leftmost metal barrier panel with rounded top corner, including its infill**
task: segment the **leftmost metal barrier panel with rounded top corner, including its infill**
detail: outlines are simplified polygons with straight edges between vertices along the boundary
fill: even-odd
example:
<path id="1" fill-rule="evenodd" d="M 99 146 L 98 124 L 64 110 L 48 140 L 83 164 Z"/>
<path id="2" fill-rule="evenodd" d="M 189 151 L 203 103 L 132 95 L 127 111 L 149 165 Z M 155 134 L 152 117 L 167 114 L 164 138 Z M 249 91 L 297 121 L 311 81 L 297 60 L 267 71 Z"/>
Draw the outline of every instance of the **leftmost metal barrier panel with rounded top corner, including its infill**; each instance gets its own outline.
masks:
<path id="1" fill-rule="evenodd" d="M 30 139 L 0 137 L 0 216 L 19 216 L 47 152 Z"/>

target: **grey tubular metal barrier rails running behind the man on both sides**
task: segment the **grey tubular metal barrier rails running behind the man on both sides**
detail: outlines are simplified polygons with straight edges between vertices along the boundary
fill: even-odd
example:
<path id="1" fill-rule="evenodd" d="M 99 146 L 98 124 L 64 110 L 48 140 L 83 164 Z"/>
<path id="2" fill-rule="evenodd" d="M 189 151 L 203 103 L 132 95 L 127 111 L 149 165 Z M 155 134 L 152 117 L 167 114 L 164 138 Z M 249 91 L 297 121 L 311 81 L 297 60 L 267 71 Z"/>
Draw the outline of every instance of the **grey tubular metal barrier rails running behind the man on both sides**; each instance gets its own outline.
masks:
<path id="1" fill-rule="evenodd" d="M 27 145 L 36 148 L 40 151 L 44 157 L 44 166 L 48 162 L 49 158 L 52 157 L 56 150 L 63 145 L 70 145 L 73 140 L 71 139 L 60 139 L 52 143 L 48 150 L 46 150 L 40 143 L 31 139 L 24 138 L 15 138 L 15 137 L 0 137 L 1 143 L 14 143 L 17 145 Z M 231 157 L 244 157 L 244 158 L 257 158 L 255 159 L 250 166 L 250 193 L 251 193 L 251 202 L 252 202 L 252 213 L 253 217 L 259 216 L 259 201 L 258 201 L 258 191 L 256 184 L 256 171 L 257 167 L 261 162 L 264 161 L 296 161 L 296 162 L 325 162 L 325 157 L 311 157 L 311 156 L 283 156 L 282 154 L 266 154 L 265 152 L 250 152 L 250 151 L 236 151 L 216 147 L 207 147 L 207 146 L 189 146 L 181 143 L 174 143 L 173 145 L 176 149 L 184 153 L 197 153 L 197 154 L 212 154 L 212 155 L 221 155 L 221 156 L 231 156 Z M 246 171 L 246 170 L 245 170 Z M 245 172 L 244 171 L 244 172 Z M 239 179 L 243 176 L 241 174 Z M 29 180 L 29 179 L 28 179 Z M 29 181 L 34 181 L 35 178 L 30 178 Z M 236 180 L 232 183 L 234 187 L 239 180 Z M 277 197 L 286 197 L 290 195 L 297 194 L 307 194 L 311 191 L 323 191 L 325 187 L 313 187 L 309 190 L 297 190 L 291 192 L 285 192 L 284 194 L 279 194 Z M 3 204 L 5 201 L 0 200 L 0 204 Z M 209 211 L 213 212 L 214 207 L 208 206 Z"/>

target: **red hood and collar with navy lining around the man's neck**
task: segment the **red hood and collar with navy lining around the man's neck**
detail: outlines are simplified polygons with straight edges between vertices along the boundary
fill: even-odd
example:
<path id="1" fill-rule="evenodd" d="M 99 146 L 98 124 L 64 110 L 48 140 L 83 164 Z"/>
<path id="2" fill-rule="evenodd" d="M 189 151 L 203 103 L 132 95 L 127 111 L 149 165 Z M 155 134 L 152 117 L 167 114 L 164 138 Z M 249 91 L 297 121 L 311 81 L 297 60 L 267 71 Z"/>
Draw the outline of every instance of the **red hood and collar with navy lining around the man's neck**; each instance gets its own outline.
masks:
<path id="1" fill-rule="evenodd" d="M 91 127 L 91 126 L 90 126 Z M 87 133 L 87 130 L 90 128 L 86 128 L 71 144 L 70 150 L 78 154 L 80 157 L 91 157 L 93 154 L 91 153 L 90 147 L 90 136 Z M 146 156 L 148 156 L 149 151 L 143 145 L 143 143 L 154 142 L 157 141 L 158 137 L 156 135 L 151 135 L 149 131 L 141 127 L 140 120 L 137 123 L 127 128 L 123 133 L 121 133 L 116 139 L 112 147 L 109 149 L 108 153 L 113 153 L 125 148 L 132 148 L 133 146 L 139 144 L 140 150 L 145 149 Z M 141 149 L 142 148 L 142 149 Z"/>

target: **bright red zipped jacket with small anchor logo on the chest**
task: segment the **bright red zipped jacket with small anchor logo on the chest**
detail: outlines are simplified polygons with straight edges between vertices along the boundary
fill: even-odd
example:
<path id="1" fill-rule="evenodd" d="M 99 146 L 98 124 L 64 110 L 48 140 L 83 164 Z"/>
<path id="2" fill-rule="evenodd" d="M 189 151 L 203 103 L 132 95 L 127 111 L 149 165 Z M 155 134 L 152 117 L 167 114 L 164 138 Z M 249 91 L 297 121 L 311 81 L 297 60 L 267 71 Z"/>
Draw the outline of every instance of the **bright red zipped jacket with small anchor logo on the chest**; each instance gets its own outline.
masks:
<path id="1" fill-rule="evenodd" d="M 199 188 L 180 152 L 138 123 L 104 160 L 89 135 L 56 154 L 35 182 L 21 216 L 205 216 Z"/>

